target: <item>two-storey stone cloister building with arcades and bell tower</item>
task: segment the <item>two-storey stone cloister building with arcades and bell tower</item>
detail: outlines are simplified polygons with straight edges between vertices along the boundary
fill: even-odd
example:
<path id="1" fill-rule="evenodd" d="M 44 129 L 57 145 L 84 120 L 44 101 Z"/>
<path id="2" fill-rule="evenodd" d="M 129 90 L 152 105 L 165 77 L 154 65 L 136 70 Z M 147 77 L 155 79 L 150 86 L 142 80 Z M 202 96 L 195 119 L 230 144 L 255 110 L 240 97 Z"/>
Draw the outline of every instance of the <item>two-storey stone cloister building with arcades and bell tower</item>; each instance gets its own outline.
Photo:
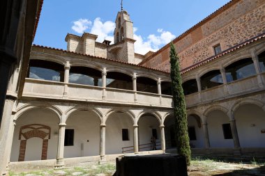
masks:
<path id="1" fill-rule="evenodd" d="M 173 152 L 169 45 L 137 54 L 128 13 L 115 22 L 114 44 L 68 33 L 67 50 L 32 46 L 22 97 L 3 116 L 7 166 Z M 265 1 L 230 1 L 173 43 L 192 154 L 264 157 Z"/>

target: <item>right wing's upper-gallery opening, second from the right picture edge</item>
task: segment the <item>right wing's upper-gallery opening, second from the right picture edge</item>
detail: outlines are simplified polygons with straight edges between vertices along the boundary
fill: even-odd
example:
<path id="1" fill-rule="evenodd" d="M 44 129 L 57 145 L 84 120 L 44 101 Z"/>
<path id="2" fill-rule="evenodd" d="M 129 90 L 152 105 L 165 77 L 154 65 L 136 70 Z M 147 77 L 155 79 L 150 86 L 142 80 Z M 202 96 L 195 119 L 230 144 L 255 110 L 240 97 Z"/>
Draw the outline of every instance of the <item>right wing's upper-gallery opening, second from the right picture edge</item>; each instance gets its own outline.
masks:
<path id="1" fill-rule="evenodd" d="M 225 67 L 227 82 L 236 81 L 256 74 L 251 58 L 244 58 Z"/>

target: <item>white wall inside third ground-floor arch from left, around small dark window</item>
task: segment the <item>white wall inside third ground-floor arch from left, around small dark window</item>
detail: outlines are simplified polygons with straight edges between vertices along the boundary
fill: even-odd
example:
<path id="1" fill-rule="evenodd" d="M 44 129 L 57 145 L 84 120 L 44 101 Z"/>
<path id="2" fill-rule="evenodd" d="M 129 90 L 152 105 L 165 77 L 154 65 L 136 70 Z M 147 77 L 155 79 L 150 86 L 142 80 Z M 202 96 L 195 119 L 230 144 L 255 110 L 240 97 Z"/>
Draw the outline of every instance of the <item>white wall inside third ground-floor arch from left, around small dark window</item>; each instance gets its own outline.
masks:
<path id="1" fill-rule="evenodd" d="M 126 113 L 109 115 L 106 121 L 106 154 L 121 154 L 122 147 L 133 146 L 132 125 L 132 119 Z M 122 141 L 122 129 L 128 129 L 129 141 Z"/>

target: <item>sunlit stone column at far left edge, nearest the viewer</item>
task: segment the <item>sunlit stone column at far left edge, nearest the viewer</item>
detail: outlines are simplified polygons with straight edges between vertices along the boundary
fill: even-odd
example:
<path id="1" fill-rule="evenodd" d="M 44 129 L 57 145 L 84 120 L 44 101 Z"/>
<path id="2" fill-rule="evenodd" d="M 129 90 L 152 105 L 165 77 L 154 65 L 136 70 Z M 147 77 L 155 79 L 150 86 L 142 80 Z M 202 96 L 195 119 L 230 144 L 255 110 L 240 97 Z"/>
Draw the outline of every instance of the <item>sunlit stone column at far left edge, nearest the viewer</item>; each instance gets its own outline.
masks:
<path id="1" fill-rule="evenodd" d="M 0 128 L 0 174 L 6 175 L 7 167 L 10 159 L 10 149 L 13 142 L 14 123 L 12 110 L 17 97 L 6 96 L 5 105 L 3 107 L 3 118 Z M 12 140 L 10 140 L 12 139 Z"/>

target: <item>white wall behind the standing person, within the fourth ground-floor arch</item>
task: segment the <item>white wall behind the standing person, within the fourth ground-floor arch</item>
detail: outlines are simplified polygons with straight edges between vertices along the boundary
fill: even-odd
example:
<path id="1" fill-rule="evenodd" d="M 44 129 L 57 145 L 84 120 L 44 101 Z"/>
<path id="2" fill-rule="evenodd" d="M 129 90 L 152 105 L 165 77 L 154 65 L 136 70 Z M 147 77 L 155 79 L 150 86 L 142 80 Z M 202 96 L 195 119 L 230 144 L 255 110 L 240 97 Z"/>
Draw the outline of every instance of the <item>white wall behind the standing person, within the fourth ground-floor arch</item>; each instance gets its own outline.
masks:
<path id="1" fill-rule="evenodd" d="M 159 128 L 159 122 L 158 119 L 151 115 L 144 115 L 142 116 L 138 121 L 138 132 L 139 132 L 139 145 L 151 143 L 151 137 L 152 137 L 152 129 L 156 129 L 158 133 L 158 139 L 156 140 L 157 145 L 160 144 L 160 128 Z M 148 145 L 145 145 L 144 147 L 147 147 Z M 143 146 L 140 146 L 143 147 Z M 139 147 L 139 148 L 140 148 Z M 160 149 L 160 147 L 157 147 L 157 149 Z M 142 149 L 139 151 L 146 151 L 151 150 L 150 148 Z"/>

